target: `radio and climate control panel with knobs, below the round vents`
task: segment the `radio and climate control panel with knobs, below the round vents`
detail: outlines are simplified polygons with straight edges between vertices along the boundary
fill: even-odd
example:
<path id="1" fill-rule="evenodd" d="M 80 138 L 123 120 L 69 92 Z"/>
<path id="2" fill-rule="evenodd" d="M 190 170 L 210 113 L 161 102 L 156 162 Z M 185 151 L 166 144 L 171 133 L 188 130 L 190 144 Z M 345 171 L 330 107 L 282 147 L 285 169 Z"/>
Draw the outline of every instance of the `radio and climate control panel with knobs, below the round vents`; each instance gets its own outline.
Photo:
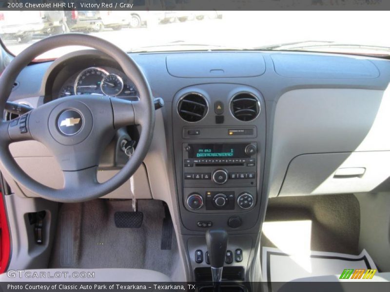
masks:
<path id="1" fill-rule="evenodd" d="M 198 213 L 251 209 L 256 202 L 256 155 L 256 142 L 184 143 L 186 208 Z M 198 222 L 199 227 L 204 225 Z"/>

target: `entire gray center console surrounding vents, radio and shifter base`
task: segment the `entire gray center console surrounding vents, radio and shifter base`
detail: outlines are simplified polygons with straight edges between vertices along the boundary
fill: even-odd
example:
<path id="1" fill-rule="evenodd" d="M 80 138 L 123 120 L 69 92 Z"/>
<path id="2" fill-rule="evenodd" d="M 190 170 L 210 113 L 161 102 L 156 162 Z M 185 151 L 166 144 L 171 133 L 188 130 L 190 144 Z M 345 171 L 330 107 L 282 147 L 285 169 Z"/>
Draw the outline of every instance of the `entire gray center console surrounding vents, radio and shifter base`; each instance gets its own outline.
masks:
<path id="1" fill-rule="evenodd" d="M 177 92 L 173 137 L 181 235 L 195 280 L 211 279 L 205 233 L 229 234 L 222 280 L 247 279 L 262 196 L 266 117 L 260 92 L 203 84 Z"/>

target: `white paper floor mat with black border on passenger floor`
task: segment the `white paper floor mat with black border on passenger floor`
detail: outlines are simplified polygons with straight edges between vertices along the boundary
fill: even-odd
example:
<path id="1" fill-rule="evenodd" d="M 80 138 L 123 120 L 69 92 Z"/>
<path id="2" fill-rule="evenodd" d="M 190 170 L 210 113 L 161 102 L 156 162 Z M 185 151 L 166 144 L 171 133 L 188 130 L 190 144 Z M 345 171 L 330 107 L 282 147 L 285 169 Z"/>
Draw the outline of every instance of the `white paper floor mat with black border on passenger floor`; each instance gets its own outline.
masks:
<path id="1" fill-rule="evenodd" d="M 302 255 L 286 254 L 277 248 L 264 247 L 262 253 L 263 280 L 267 282 L 289 282 L 310 276 L 340 275 L 345 269 L 376 269 L 366 250 L 359 255 L 315 251 Z"/>

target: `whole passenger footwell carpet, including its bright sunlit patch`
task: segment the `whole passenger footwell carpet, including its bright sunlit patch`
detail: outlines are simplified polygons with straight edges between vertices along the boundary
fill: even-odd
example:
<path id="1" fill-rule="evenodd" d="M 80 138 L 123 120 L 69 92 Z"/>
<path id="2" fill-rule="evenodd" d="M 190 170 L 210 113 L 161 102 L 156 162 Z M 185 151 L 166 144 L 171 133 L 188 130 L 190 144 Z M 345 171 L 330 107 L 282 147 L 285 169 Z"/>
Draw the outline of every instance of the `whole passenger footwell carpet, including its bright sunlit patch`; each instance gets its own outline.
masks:
<path id="1" fill-rule="evenodd" d="M 282 197 L 269 200 L 261 247 L 358 255 L 359 203 L 353 195 Z"/>

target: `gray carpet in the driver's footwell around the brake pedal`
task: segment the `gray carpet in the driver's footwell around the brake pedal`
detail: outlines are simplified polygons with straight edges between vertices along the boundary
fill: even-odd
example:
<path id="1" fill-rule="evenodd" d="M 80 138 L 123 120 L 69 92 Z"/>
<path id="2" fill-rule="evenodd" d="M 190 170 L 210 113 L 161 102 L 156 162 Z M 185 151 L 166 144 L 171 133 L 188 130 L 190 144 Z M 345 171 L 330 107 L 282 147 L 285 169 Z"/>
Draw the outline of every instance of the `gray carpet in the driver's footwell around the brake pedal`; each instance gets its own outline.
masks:
<path id="1" fill-rule="evenodd" d="M 138 268 L 168 276 L 177 268 L 175 233 L 172 249 L 161 250 L 162 201 L 139 200 L 140 228 L 117 228 L 114 214 L 131 211 L 131 200 L 94 200 L 62 204 L 50 268 Z"/>

